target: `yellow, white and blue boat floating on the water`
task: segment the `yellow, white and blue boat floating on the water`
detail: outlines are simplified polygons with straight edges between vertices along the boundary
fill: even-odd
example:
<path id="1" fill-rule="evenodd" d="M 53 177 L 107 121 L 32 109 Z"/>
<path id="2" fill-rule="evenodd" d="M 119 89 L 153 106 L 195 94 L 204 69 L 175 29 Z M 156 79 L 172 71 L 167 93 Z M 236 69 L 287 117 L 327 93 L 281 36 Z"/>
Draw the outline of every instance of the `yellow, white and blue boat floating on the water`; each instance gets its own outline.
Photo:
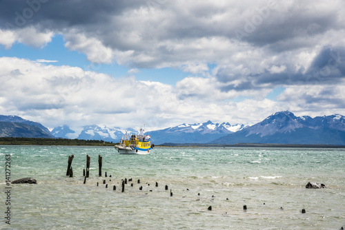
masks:
<path id="1" fill-rule="evenodd" d="M 150 154 L 151 149 L 155 147 L 151 143 L 151 137 L 144 135 L 144 129 L 140 129 L 140 135 L 122 136 L 119 145 L 115 149 L 119 154 Z"/>

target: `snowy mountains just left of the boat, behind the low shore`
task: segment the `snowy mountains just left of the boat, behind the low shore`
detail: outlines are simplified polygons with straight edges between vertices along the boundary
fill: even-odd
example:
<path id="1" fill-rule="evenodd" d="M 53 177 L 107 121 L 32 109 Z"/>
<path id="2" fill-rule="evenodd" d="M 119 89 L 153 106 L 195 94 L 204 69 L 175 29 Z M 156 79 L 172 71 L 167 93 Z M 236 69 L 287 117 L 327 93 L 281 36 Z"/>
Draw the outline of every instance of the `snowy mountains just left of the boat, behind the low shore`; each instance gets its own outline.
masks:
<path id="1" fill-rule="evenodd" d="M 113 143 L 119 143 L 121 137 L 126 134 L 139 134 L 137 130 L 128 128 L 121 129 L 119 127 L 109 128 L 106 125 L 86 125 L 78 136 L 83 140 L 104 140 Z"/>

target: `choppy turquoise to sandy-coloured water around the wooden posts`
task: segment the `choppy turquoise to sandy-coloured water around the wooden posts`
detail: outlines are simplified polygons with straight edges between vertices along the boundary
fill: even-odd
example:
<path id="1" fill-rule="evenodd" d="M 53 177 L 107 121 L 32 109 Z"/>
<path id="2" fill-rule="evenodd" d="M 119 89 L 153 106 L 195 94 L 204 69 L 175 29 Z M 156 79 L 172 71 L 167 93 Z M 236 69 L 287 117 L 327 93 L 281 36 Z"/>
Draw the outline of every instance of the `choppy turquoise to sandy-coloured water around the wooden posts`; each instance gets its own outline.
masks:
<path id="1" fill-rule="evenodd" d="M 11 180 L 32 177 L 37 185 L 8 189 L 8 162 Z M 155 147 L 120 155 L 114 147 L 3 145 L 0 229 L 340 229 L 344 163 L 344 149 Z M 306 189 L 308 182 L 327 188 Z"/>

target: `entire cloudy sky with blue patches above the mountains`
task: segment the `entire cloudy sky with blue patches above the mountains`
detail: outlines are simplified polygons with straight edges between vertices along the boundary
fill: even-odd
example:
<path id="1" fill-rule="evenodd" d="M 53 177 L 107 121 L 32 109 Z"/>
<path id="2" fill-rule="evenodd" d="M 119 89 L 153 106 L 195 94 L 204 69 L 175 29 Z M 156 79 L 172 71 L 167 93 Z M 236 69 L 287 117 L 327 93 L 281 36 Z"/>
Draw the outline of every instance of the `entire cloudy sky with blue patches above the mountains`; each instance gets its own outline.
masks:
<path id="1" fill-rule="evenodd" d="M 1 0 L 0 114 L 253 125 L 345 114 L 345 1 Z"/>

